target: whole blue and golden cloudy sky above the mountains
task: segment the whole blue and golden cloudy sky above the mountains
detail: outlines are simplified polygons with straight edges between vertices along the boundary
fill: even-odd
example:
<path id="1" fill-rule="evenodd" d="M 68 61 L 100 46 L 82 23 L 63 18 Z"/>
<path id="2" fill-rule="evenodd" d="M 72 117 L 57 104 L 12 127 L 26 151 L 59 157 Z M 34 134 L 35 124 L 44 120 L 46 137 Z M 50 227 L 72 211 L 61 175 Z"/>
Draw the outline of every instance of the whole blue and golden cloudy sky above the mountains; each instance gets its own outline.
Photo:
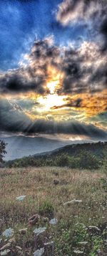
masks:
<path id="1" fill-rule="evenodd" d="M 0 131 L 107 139 L 107 1 L 0 0 Z"/>

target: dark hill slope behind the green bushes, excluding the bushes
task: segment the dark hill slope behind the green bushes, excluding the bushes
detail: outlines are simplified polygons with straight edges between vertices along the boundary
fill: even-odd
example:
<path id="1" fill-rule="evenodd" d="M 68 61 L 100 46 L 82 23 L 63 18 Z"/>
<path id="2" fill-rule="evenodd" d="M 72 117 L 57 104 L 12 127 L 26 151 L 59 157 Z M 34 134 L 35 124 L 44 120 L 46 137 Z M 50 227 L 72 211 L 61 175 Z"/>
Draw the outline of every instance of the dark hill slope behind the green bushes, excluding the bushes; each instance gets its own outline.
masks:
<path id="1" fill-rule="evenodd" d="M 37 153 L 32 156 L 26 156 L 24 158 L 17 158 L 11 161 L 6 161 L 6 166 L 44 166 L 47 163 L 56 163 L 56 159 L 60 158 L 60 156 L 62 159 L 65 158 L 65 156 L 70 156 L 73 157 L 73 159 L 77 159 L 79 155 L 82 156 L 83 152 L 88 152 L 89 161 L 90 156 L 96 156 L 98 158 L 98 161 L 100 159 L 102 161 L 104 158 L 104 151 L 106 152 L 106 150 L 107 141 L 99 141 L 98 143 L 78 143 L 57 148 L 54 151 Z"/>

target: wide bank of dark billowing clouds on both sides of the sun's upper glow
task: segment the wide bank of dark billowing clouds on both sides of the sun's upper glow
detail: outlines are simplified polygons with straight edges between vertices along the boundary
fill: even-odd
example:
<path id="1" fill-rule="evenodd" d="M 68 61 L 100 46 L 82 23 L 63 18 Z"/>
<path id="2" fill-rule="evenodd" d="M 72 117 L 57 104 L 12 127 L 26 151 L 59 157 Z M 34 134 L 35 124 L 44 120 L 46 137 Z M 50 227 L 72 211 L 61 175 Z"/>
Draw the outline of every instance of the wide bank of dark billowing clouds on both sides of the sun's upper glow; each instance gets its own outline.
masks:
<path id="1" fill-rule="evenodd" d="M 26 66 L 1 73 L 0 92 L 26 93 L 34 91 L 46 95 L 46 81 L 49 66 L 63 72 L 61 87 L 56 92 L 95 93 L 107 86 L 106 54 L 95 42 L 83 42 L 78 49 L 56 47 L 53 37 L 34 42 L 30 54 L 26 56 Z"/>

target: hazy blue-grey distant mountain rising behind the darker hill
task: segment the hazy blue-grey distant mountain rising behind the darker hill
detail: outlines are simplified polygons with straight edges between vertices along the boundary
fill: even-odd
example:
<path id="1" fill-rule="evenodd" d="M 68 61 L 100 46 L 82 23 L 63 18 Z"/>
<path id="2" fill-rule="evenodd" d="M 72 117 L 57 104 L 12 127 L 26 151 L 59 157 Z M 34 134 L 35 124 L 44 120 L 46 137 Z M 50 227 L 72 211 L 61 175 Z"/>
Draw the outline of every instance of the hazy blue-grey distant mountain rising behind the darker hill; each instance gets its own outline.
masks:
<path id="1" fill-rule="evenodd" d="M 29 136 L 10 136 L 1 138 L 6 145 L 7 154 L 4 160 L 14 160 L 16 158 L 22 158 L 24 156 L 34 155 L 36 153 L 43 153 L 46 151 L 53 151 L 56 148 L 60 148 L 71 144 L 72 141 L 58 140 L 57 138 L 45 138 L 45 137 L 29 137 Z M 77 141 L 78 142 L 78 141 Z"/>

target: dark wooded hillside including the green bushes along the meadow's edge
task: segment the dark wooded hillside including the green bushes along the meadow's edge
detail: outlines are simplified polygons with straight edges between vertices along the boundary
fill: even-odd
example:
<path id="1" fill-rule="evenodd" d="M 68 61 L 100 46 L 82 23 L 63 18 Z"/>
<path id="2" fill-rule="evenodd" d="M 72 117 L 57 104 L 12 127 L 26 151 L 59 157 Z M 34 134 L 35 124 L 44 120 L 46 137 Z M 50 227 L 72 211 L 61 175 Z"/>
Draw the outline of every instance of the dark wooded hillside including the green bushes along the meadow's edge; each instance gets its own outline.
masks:
<path id="1" fill-rule="evenodd" d="M 107 142 L 73 144 L 54 151 L 38 153 L 13 161 L 7 167 L 27 166 L 70 166 L 71 168 L 98 169 L 103 164 Z"/>

